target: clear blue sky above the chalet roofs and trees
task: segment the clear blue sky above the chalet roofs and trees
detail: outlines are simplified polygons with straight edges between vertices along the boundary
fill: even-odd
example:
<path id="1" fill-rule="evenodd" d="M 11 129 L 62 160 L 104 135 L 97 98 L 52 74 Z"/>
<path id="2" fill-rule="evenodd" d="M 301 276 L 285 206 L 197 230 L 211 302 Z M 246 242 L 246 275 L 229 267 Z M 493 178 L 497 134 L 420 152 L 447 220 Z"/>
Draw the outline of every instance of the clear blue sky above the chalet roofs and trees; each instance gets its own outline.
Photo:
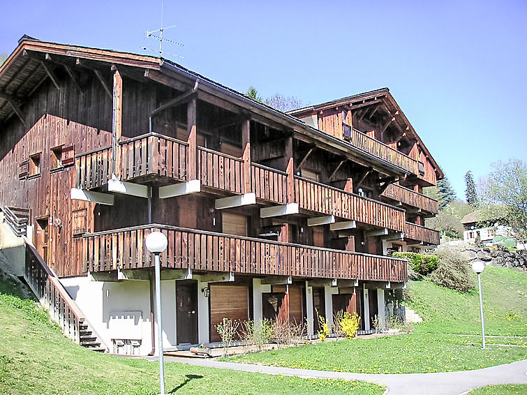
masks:
<path id="1" fill-rule="evenodd" d="M 168 1 L 165 50 L 238 91 L 316 104 L 389 87 L 464 198 L 463 176 L 527 161 L 527 1 Z M 142 52 L 161 0 L 2 1 L 0 52 L 41 40 Z M 142 52 L 147 53 L 147 52 Z M 151 53 L 151 52 L 148 52 Z M 169 56 L 170 58 L 170 56 Z"/>

